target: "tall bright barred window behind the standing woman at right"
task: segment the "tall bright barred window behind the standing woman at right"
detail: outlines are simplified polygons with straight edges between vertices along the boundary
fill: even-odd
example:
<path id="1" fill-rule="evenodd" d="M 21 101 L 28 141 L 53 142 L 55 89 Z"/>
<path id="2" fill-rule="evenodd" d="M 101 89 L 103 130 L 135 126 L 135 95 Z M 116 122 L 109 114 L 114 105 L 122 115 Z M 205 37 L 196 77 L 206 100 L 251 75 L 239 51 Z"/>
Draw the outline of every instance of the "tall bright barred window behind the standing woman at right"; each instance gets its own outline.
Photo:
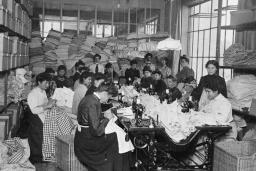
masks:
<path id="1" fill-rule="evenodd" d="M 238 0 L 223 0 L 221 25 L 230 24 L 230 12 Z M 231 8 L 232 7 L 232 8 Z M 232 43 L 235 34 L 233 30 L 218 30 L 218 0 L 210 0 L 190 8 L 189 16 L 189 51 L 191 67 L 195 71 L 195 78 L 200 80 L 201 76 L 206 75 L 205 64 L 208 60 L 218 59 L 219 64 L 223 65 L 223 53 Z M 217 58 L 217 33 L 221 32 L 220 37 L 220 57 Z M 230 69 L 220 69 L 220 76 L 226 80 L 232 77 Z"/>

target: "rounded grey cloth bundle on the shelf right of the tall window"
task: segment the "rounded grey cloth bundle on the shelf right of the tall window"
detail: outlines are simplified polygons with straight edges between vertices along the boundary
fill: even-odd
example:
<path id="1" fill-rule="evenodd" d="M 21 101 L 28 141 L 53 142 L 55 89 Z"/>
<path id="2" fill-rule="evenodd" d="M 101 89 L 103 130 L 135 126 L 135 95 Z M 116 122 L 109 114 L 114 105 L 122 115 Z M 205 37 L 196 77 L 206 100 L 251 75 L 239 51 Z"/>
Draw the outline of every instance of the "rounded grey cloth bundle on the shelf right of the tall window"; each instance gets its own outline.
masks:
<path id="1" fill-rule="evenodd" d="M 241 44 L 233 44 L 224 52 L 224 65 L 256 65 L 256 51 L 246 50 Z"/>

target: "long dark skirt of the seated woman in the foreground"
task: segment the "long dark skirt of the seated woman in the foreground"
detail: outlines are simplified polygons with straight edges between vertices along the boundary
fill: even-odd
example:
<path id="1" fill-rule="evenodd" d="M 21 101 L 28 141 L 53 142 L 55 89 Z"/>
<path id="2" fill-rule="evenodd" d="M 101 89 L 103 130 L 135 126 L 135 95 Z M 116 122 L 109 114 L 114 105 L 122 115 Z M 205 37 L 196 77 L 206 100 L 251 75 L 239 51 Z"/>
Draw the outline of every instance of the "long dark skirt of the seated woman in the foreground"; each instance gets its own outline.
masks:
<path id="1" fill-rule="evenodd" d="M 74 151 L 78 160 L 89 171 L 129 171 L 128 154 L 118 153 L 115 133 L 100 137 L 92 136 L 89 129 L 76 131 Z"/>

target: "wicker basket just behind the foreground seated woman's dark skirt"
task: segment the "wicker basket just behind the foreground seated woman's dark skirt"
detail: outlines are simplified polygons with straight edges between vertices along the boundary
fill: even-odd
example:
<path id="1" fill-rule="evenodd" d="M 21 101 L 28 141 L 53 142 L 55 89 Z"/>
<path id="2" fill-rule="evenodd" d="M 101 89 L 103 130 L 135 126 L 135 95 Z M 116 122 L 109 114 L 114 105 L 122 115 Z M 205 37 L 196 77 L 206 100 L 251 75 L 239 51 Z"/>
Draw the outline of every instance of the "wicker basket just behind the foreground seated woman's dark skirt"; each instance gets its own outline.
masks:
<path id="1" fill-rule="evenodd" d="M 74 153 L 74 135 L 56 137 L 57 166 L 63 171 L 87 171 Z"/>

